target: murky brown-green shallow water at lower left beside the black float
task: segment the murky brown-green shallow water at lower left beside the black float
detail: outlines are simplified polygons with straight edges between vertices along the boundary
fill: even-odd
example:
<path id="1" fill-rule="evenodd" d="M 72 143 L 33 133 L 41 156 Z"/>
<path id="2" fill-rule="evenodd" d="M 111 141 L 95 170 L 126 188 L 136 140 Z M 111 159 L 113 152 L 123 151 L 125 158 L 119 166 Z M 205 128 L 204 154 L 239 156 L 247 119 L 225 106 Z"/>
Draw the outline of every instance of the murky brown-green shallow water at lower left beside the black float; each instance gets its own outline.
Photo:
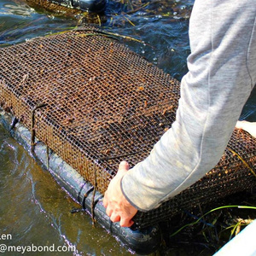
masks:
<path id="1" fill-rule="evenodd" d="M 15 246 L 75 246 L 77 255 L 130 255 L 79 207 L 3 127 L 0 128 L 0 230 Z M 1 241 L 3 242 L 3 241 Z M 0 243 L 1 243 L 0 242 Z M 19 253 L 6 253 L 19 255 Z M 37 253 L 36 253 L 37 254 Z M 49 255 L 49 252 L 40 255 Z M 53 253 L 53 255 L 73 253 Z M 26 255 L 26 254 L 25 254 Z"/>

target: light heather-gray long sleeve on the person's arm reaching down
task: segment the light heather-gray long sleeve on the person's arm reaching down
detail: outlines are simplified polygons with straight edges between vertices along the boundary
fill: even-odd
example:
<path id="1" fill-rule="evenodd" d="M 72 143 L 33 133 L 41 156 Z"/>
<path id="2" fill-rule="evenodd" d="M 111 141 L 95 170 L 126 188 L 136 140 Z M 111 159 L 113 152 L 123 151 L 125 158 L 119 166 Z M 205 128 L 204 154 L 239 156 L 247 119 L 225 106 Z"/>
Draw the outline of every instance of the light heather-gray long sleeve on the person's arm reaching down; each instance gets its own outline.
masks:
<path id="1" fill-rule="evenodd" d="M 224 153 L 256 82 L 255 0 L 196 0 L 189 73 L 176 121 L 121 181 L 141 211 L 158 207 L 210 171 Z"/>

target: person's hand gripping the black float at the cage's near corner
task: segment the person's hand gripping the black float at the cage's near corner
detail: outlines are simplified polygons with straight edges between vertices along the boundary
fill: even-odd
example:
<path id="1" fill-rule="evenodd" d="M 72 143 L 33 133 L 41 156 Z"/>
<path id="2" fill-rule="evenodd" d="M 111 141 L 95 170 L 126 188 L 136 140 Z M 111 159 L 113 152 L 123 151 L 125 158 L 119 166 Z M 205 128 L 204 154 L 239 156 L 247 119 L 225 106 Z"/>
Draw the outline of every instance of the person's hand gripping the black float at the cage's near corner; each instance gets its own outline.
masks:
<path id="1" fill-rule="evenodd" d="M 121 227 L 131 227 L 131 218 L 137 213 L 137 208 L 131 206 L 121 190 L 121 178 L 128 170 L 129 164 L 126 161 L 120 162 L 119 171 L 109 183 L 103 199 L 108 217 L 113 222 L 120 222 Z"/>

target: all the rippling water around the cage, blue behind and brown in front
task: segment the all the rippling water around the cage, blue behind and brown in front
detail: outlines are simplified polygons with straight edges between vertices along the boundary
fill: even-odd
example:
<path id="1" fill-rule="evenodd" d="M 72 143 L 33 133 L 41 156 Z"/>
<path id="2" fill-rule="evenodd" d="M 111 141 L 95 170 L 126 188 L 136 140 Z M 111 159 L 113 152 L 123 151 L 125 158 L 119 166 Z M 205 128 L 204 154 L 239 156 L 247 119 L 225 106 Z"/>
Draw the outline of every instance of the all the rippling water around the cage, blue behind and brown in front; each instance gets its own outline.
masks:
<path id="1" fill-rule="evenodd" d="M 180 80 L 187 72 L 188 25 L 193 3 L 192 0 L 155 2 L 131 15 L 123 15 L 122 12 L 127 11 L 125 6 L 110 2 L 106 11 L 107 21 L 102 23 L 102 27 L 143 41 L 123 39 L 124 44 Z M 2 47 L 67 30 L 78 24 L 79 17 L 56 17 L 42 9 L 36 11 L 21 1 L 0 0 Z M 254 90 L 241 115 L 243 119 L 256 120 L 255 99 Z M 79 206 L 1 126 L 0 163 L 0 235 L 12 236 L 4 243 L 75 247 L 75 253 L 46 252 L 40 255 L 131 255 L 101 227 L 96 225 L 93 228 L 89 215 L 70 213 L 73 207 Z M 183 246 L 175 252 L 181 255 Z M 176 253 L 165 252 L 166 255 Z"/>

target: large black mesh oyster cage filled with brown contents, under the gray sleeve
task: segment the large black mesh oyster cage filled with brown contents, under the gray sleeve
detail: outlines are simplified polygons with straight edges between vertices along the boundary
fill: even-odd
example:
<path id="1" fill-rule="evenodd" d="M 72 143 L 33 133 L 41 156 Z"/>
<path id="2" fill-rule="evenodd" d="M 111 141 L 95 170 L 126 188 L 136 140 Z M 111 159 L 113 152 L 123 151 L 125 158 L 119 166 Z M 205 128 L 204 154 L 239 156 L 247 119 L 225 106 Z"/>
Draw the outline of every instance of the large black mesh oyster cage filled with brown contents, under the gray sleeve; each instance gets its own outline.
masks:
<path id="1" fill-rule="evenodd" d="M 120 44 L 83 27 L 0 49 L 0 102 L 102 194 L 119 162 L 132 166 L 175 120 L 179 82 Z M 235 130 L 218 165 L 157 209 L 138 229 L 183 209 L 255 186 L 255 138 Z"/>

